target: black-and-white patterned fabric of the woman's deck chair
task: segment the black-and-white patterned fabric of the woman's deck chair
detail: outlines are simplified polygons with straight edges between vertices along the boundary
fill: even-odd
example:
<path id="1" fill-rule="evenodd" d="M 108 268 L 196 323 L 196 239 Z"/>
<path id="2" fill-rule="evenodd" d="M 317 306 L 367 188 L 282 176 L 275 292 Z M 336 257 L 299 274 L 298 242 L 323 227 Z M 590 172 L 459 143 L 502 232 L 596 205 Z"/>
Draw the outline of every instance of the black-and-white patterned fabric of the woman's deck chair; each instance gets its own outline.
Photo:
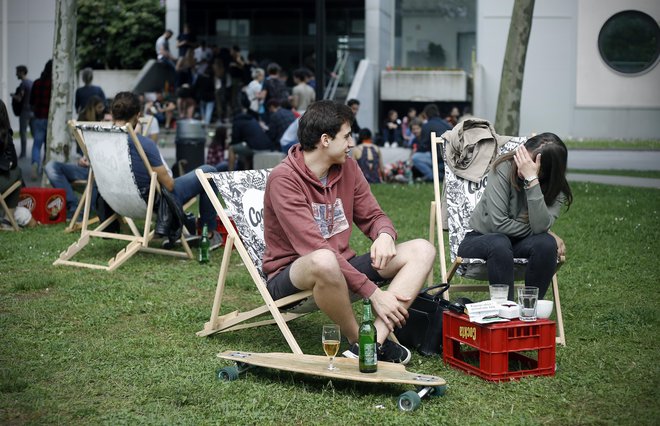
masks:
<path id="1" fill-rule="evenodd" d="M 516 149 L 520 144 L 525 143 L 526 137 L 512 138 L 499 149 L 498 156 L 506 154 Z M 445 157 L 443 143 L 442 156 Z M 445 167 L 445 193 L 447 199 L 447 221 L 449 225 L 449 255 L 451 261 L 456 260 L 458 246 L 465 238 L 465 234 L 470 230 L 470 216 L 477 206 L 486 188 L 488 176 L 484 176 L 481 181 L 471 182 L 467 179 L 458 177 L 449 167 Z M 524 266 L 527 259 L 514 259 L 516 265 Z M 484 280 L 488 277 L 486 270 L 486 261 L 478 258 L 463 258 L 462 264 L 456 273 L 461 276 Z M 524 273 L 524 268 L 516 268 L 516 279 Z"/>

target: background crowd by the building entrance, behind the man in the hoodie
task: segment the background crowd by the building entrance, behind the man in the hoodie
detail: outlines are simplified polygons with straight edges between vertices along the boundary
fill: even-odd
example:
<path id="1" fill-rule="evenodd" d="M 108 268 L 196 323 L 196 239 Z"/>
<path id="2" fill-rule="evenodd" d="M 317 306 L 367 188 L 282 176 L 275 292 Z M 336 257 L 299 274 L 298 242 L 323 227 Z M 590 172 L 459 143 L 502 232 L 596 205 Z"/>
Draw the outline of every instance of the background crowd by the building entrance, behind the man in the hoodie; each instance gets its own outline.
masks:
<path id="1" fill-rule="evenodd" d="M 177 38 L 178 57 L 175 58 L 167 42 L 171 36 L 172 32 L 166 31 L 158 39 L 156 51 L 159 61 L 176 71 L 175 87 L 169 100 L 163 99 L 167 99 L 167 94 L 158 93 L 151 104 L 166 131 L 175 125 L 175 115 L 178 119 L 197 117 L 206 126 L 215 123 L 218 126 L 215 134 L 224 135 L 222 143 L 227 155 L 220 159 L 218 149 L 214 149 L 216 153 L 209 157 L 216 164 L 226 163 L 228 170 L 250 167 L 250 158 L 255 152 L 286 153 L 297 143 L 298 118 L 316 100 L 314 73 L 310 69 L 293 70 L 289 79 L 290 74 L 279 64 L 267 60 L 258 62 L 252 54 L 245 58 L 239 46 L 223 48 L 196 43 L 187 26 Z M 357 116 L 360 101 L 349 99 L 347 105 Z M 402 176 L 392 174 L 401 175 L 402 170 L 382 164 L 379 147 L 407 148 L 411 155 L 404 167 L 409 168 L 410 175 L 416 179 L 430 182 L 433 180 L 431 133 L 442 134 L 453 128 L 460 116 L 457 106 L 447 111 L 440 111 L 435 104 L 426 105 L 419 112 L 415 107 L 406 111 L 391 109 L 380 128 L 375 131 L 367 128 L 362 134 L 355 119 L 354 139 L 369 147 L 354 150 L 354 157 L 361 158 L 364 151 L 367 155 L 361 161 L 369 163 L 365 167 L 378 167 L 377 171 L 365 172 L 370 173 L 372 182 L 401 180 Z M 219 130 L 224 126 L 229 126 L 229 131 Z M 214 146 L 220 143 L 215 140 Z M 442 164 L 439 167 L 442 172 Z"/>

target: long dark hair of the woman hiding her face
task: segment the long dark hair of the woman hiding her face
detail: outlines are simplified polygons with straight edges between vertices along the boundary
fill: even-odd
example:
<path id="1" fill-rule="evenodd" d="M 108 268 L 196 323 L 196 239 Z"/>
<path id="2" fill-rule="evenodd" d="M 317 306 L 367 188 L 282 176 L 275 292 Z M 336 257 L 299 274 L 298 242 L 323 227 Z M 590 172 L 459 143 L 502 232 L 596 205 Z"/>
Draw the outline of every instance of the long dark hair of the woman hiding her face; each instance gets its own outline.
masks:
<path id="1" fill-rule="evenodd" d="M 543 200 L 546 205 L 554 203 L 560 193 L 566 197 L 564 204 L 566 208 L 573 202 L 573 193 L 566 180 L 566 163 L 568 160 L 568 150 L 566 145 L 554 133 L 541 133 L 533 136 L 525 142 L 525 148 L 530 152 L 533 161 L 536 156 L 541 154 L 541 169 L 539 170 L 539 184 L 543 192 Z M 515 151 L 512 151 L 498 158 L 493 164 L 493 169 L 497 168 L 505 161 L 511 162 L 511 186 L 516 191 L 520 191 L 520 178 L 518 177 L 518 166 L 513 160 Z"/>

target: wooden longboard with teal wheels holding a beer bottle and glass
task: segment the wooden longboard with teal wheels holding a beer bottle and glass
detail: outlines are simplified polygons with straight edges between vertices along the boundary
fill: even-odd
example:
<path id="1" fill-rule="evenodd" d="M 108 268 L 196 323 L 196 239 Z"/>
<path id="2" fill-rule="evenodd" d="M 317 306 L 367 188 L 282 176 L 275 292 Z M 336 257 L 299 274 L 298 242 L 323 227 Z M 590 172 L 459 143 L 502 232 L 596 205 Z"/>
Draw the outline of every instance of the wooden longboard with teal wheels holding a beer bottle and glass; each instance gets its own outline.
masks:
<path id="1" fill-rule="evenodd" d="M 447 382 L 440 377 L 412 373 L 405 366 L 391 362 L 379 362 L 375 373 L 360 373 L 358 360 L 351 358 L 335 358 L 334 365 L 338 370 L 328 370 L 328 358 L 319 355 L 225 351 L 219 353 L 218 358 L 236 363 L 218 370 L 217 378 L 223 381 L 236 380 L 244 371 L 264 367 L 340 380 L 413 385 L 417 391 L 407 391 L 399 396 L 397 405 L 403 411 L 415 410 L 424 396 L 442 396 L 447 389 Z"/>

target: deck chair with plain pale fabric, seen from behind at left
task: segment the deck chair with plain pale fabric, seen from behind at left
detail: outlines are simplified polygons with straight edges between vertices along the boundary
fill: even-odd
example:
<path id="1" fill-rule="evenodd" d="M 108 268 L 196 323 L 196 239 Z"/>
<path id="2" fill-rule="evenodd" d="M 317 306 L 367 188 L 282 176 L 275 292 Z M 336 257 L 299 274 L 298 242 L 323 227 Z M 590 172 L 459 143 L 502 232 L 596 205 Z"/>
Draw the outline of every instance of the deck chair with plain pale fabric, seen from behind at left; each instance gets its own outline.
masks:
<path id="1" fill-rule="evenodd" d="M 140 141 L 131 125 L 127 124 L 124 127 L 116 127 L 108 122 L 74 121 L 69 122 L 69 125 L 75 128 L 74 134 L 76 140 L 89 159 L 89 177 L 87 179 L 87 188 L 85 188 L 85 207 L 80 238 L 63 251 L 53 264 L 113 271 L 138 251 L 192 259 L 192 251 L 185 238 L 181 238 L 183 251 L 149 247 L 149 242 L 154 237 L 151 222 L 154 202 L 156 194 L 160 191 L 160 186 L 156 179 L 156 172 L 152 170 L 147 156 L 142 149 L 142 145 L 140 145 Z M 135 144 L 140 158 L 151 176 L 147 201 L 140 195 L 140 190 L 135 183 L 135 178 L 131 171 L 129 138 Z M 115 213 L 99 224 L 94 230 L 90 230 L 88 226 L 91 210 L 91 190 L 94 182 L 96 182 L 99 194 L 112 207 Z M 133 221 L 134 219 L 144 220 L 142 230 L 137 227 Z M 114 220 L 125 221 L 130 228 L 130 234 L 104 232 L 105 228 Z M 115 257 L 110 259 L 106 265 L 71 260 L 87 246 L 92 238 L 126 241 L 127 245 Z"/>

